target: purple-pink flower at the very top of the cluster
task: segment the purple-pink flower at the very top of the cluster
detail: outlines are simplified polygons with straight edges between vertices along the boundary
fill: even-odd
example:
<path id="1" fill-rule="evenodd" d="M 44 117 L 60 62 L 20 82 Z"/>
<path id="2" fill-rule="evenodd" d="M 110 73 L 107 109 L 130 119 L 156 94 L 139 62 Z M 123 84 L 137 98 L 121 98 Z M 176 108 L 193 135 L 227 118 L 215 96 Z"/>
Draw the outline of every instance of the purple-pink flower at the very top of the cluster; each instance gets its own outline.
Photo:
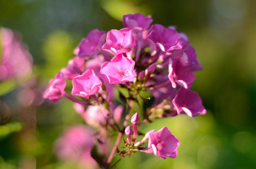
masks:
<path id="1" fill-rule="evenodd" d="M 150 16 L 145 17 L 142 14 L 128 14 L 123 16 L 123 25 L 125 28 L 132 28 L 135 32 L 149 29 L 153 19 Z"/>

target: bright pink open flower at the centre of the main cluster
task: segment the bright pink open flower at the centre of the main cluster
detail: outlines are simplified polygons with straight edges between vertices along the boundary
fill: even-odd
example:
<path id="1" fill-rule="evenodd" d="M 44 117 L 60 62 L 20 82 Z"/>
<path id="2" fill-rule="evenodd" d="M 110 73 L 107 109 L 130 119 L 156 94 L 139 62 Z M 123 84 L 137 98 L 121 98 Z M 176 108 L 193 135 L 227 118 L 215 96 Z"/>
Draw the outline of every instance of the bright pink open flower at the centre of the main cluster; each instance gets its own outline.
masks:
<path id="1" fill-rule="evenodd" d="M 111 61 L 101 66 L 101 76 L 111 84 L 125 84 L 134 81 L 135 62 L 122 54 L 116 55 Z"/>

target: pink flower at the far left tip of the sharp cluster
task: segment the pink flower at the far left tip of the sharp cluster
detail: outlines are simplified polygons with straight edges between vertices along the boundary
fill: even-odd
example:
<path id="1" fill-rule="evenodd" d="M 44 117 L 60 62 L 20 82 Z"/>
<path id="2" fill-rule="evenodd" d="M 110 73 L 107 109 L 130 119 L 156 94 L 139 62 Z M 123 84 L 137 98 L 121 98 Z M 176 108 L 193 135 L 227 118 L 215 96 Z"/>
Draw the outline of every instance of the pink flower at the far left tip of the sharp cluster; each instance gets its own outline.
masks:
<path id="1" fill-rule="evenodd" d="M 67 82 L 64 79 L 63 73 L 55 75 L 54 79 L 51 79 L 49 87 L 44 93 L 44 98 L 52 101 L 58 101 L 60 97 L 65 94 L 65 87 Z"/>

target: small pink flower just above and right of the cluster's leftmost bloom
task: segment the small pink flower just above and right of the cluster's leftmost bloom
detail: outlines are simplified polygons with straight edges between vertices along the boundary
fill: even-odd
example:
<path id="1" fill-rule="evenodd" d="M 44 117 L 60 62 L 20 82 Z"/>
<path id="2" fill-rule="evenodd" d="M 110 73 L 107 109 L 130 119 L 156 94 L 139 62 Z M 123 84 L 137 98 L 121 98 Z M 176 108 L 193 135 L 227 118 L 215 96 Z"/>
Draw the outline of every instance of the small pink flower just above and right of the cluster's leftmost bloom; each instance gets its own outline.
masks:
<path id="1" fill-rule="evenodd" d="M 60 70 L 64 74 L 64 77 L 72 80 L 77 75 L 81 75 L 84 71 L 84 59 L 80 59 L 78 56 L 68 61 L 67 68 Z"/>

